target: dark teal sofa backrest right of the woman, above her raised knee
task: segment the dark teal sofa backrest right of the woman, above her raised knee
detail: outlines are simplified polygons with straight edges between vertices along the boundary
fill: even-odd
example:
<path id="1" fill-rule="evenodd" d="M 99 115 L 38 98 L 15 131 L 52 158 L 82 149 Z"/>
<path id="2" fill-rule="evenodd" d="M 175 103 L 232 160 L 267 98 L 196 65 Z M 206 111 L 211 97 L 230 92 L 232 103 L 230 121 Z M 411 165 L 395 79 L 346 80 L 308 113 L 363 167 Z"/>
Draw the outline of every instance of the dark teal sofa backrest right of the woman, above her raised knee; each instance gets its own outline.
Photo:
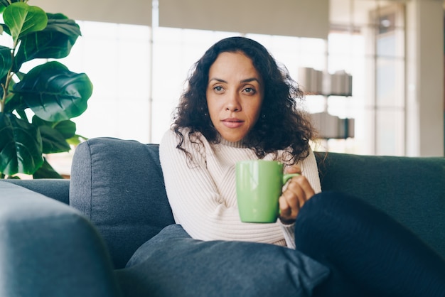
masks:
<path id="1" fill-rule="evenodd" d="M 445 158 L 316 153 L 322 190 L 368 201 L 445 257 Z"/>

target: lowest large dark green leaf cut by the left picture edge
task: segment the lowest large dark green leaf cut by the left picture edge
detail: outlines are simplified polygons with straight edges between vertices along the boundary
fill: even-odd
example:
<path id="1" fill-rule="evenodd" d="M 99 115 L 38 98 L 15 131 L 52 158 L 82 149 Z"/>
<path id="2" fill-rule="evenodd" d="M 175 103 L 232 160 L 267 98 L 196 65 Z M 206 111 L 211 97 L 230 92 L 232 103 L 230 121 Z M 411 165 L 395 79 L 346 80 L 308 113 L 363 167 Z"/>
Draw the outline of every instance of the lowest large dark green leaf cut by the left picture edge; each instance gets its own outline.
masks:
<path id="1" fill-rule="evenodd" d="M 33 174 L 42 163 L 38 129 L 14 114 L 0 113 L 0 172 Z"/>

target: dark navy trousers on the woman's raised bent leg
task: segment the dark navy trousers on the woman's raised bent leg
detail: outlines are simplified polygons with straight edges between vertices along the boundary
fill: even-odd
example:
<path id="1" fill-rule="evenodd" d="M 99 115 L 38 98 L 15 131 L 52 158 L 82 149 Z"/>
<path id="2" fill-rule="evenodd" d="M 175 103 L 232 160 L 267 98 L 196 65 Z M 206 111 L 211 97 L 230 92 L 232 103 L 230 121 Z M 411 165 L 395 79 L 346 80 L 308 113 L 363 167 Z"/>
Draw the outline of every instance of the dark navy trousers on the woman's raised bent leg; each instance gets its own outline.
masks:
<path id="1" fill-rule="evenodd" d="M 389 215 L 336 192 L 315 195 L 296 249 L 331 269 L 313 296 L 445 296 L 445 260 Z"/>

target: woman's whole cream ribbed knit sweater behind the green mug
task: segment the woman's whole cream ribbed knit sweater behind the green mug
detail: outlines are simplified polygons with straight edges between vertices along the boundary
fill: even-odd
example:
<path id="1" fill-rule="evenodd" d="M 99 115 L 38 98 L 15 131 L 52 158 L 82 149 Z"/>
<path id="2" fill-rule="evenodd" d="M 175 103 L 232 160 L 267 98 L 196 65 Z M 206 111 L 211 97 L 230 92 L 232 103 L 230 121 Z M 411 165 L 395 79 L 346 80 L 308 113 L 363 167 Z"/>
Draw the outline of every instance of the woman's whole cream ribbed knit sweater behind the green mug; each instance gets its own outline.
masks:
<path id="1" fill-rule="evenodd" d="M 200 137 L 203 145 L 193 144 L 188 139 L 188 131 L 183 130 L 182 133 L 183 148 L 191 153 L 193 162 L 176 148 L 178 137 L 174 131 L 166 132 L 159 147 L 168 201 L 176 223 L 181 224 L 195 239 L 264 242 L 293 248 L 294 225 L 240 221 L 235 189 L 235 163 L 257 159 L 254 152 L 242 147 L 240 142 L 209 144 L 203 136 Z M 268 154 L 264 159 L 277 159 L 274 155 Z M 299 166 L 313 190 L 320 192 L 318 168 L 312 151 Z"/>

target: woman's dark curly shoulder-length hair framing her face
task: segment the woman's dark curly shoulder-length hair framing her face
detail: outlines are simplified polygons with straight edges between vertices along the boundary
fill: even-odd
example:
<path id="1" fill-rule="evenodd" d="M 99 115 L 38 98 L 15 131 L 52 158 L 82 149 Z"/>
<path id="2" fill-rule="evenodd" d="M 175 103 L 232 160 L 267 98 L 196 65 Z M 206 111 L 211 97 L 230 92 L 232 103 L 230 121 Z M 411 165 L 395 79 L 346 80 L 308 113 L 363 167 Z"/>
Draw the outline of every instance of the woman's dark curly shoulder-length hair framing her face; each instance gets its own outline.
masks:
<path id="1" fill-rule="evenodd" d="M 205 92 L 210 66 L 220 53 L 225 52 L 242 52 L 247 55 L 264 83 L 261 115 L 242 140 L 243 144 L 252 148 L 258 158 L 280 149 L 289 153 L 289 160 L 284 160 L 286 162 L 295 163 L 306 158 L 309 155 L 309 140 L 315 137 L 315 132 L 307 114 L 297 105 L 303 99 L 303 92 L 286 68 L 279 67 L 263 45 L 243 37 L 218 41 L 195 63 L 173 117 L 172 128 L 180 139 L 176 147 L 185 151 L 181 147 L 184 139 L 181 128 L 189 129 L 188 137 L 193 142 L 197 141 L 198 133 L 210 143 L 220 142 L 218 131 L 210 120 Z"/>

